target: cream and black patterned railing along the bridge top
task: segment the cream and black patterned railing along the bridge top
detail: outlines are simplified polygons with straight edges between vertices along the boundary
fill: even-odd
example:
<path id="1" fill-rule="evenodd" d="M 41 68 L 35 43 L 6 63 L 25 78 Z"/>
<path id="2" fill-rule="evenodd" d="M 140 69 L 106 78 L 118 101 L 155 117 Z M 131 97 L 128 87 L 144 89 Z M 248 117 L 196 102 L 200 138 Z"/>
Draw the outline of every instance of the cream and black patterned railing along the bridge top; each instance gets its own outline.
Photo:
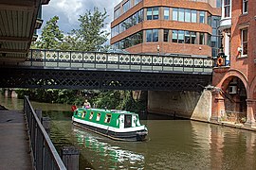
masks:
<path id="1" fill-rule="evenodd" d="M 211 73 L 211 58 L 31 49 L 23 66 Z"/>

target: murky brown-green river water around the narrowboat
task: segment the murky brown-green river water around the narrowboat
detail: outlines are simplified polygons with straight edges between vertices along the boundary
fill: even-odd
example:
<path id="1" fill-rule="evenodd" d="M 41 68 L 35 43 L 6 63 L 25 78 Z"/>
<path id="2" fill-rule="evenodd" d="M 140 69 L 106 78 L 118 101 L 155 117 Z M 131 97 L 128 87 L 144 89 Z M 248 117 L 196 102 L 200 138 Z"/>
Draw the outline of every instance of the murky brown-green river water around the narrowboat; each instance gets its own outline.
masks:
<path id="1" fill-rule="evenodd" d="M 72 126 L 69 105 L 31 103 L 51 118 L 58 151 L 64 145 L 80 149 L 80 169 L 256 169 L 253 131 L 145 114 L 149 140 L 117 142 Z M 23 100 L 0 96 L 0 105 L 22 110 Z"/>

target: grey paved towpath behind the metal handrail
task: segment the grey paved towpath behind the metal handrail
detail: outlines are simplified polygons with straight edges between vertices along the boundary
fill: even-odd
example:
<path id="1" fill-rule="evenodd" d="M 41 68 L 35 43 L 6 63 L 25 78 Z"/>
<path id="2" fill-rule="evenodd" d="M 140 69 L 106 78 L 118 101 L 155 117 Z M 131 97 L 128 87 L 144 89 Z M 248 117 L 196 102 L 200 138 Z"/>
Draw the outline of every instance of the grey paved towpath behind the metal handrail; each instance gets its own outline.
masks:
<path id="1" fill-rule="evenodd" d="M 32 169 L 28 146 L 23 112 L 0 106 L 0 169 Z"/>

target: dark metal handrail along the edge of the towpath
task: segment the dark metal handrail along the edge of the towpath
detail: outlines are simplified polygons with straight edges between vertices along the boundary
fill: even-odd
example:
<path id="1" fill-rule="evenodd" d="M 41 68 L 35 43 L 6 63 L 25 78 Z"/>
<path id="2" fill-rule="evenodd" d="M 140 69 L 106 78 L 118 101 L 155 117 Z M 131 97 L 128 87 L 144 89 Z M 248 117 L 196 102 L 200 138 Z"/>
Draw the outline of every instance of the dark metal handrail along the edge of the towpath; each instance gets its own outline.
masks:
<path id="1" fill-rule="evenodd" d="M 65 170 L 64 162 L 52 144 L 27 96 L 24 97 L 24 113 L 27 118 L 29 145 L 34 168 Z"/>

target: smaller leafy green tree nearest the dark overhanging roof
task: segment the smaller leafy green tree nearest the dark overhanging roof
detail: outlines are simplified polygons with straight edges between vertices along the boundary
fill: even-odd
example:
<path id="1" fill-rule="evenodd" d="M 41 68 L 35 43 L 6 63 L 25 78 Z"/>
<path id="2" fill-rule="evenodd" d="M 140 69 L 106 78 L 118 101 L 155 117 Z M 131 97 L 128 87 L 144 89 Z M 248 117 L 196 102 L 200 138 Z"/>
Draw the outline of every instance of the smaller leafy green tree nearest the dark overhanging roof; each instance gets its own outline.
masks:
<path id="1" fill-rule="evenodd" d="M 40 49 L 59 49 L 64 41 L 64 33 L 60 30 L 58 24 L 59 17 L 54 16 L 46 22 L 42 30 L 41 37 L 35 42 L 33 47 Z"/>

